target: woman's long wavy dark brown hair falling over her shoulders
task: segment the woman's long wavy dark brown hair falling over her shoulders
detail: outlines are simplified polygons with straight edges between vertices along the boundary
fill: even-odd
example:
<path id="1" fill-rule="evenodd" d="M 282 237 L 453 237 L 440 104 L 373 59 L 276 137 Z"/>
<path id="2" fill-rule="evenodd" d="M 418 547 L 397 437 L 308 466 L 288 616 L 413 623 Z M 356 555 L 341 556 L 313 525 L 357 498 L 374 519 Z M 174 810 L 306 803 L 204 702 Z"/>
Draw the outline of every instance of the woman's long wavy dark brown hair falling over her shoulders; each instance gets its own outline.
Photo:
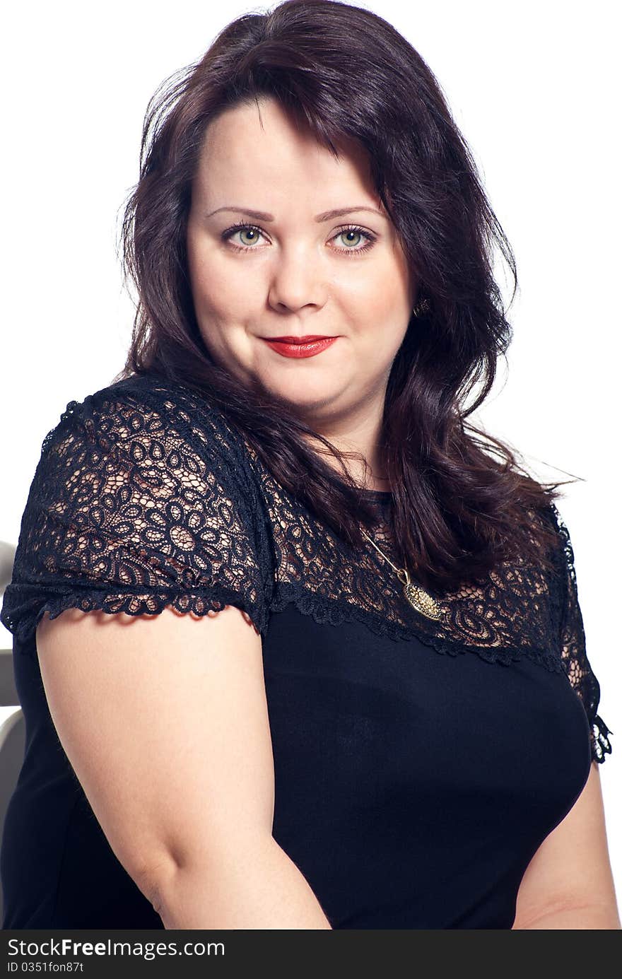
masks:
<path id="1" fill-rule="evenodd" d="M 285 0 L 246 14 L 157 90 L 122 223 L 137 307 L 115 380 L 157 374 L 209 396 L 282 487 L 351 544 L 362 543 L 359 526 L 371 526 L 374 514 L 345 468 L 353 453 L 340 458 L 259 383 L 243 389 L 206 349 L 194 311 L 185 239 L 202 139 L 219 113 L 265 96 L 302 119 L 335 157 L 344 136 L 359 141 L 419 283 L 417 302 L 429 305 L 408 323 L 385 399 L 380 450 L 394 492 L 398 557 L 416 580 L 441 591 L 486 576 L 504 557 L 549 566 L 555 536 L 539 511 L 562 484 L 537 482 L 507 445 L 466 422 L 511 340 L 495 250 L 510 269 L 511 301 L 515 259 L 432 71 L 368 10 Z M 322 459 L 327 451 L 344 466 L 343 478 Z"/>

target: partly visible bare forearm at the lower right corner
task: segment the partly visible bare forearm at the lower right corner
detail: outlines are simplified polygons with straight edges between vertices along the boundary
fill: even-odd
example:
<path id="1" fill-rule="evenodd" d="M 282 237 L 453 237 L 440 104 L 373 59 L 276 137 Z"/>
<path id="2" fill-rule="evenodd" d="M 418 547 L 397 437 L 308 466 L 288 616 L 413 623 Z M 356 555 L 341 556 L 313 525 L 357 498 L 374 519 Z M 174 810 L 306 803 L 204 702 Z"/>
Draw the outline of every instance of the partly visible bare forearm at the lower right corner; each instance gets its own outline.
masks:
<path id="1" fill-rule="evenodd" d="M 597 762 L 525 871 L 513 924 L 524 929 L 620 929 Z"/>

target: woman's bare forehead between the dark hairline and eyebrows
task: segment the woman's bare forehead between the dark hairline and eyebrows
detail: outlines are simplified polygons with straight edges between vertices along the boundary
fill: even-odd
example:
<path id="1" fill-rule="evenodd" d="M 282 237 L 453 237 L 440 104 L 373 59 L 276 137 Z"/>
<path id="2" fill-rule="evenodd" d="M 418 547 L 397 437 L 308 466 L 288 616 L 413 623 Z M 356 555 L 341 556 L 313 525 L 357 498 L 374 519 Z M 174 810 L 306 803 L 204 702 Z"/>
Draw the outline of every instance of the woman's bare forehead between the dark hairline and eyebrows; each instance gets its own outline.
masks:
<path id="1" fill-rule="evenodd" d="M 338 159 L 272 99 L 260 100 L 259 106 L 240 104 L 208 126 L 193 191 L 214 208 L 228 204 L 224 198 L 234 190 L 244 199 L 231 203 L 264 210 L 277 208 L 279 202 L 291 207 L 301 198 L 313 201 L 316 210 L 351 204 L 378 207 L 363 148 L 344 138 L 337 149 Z"/>

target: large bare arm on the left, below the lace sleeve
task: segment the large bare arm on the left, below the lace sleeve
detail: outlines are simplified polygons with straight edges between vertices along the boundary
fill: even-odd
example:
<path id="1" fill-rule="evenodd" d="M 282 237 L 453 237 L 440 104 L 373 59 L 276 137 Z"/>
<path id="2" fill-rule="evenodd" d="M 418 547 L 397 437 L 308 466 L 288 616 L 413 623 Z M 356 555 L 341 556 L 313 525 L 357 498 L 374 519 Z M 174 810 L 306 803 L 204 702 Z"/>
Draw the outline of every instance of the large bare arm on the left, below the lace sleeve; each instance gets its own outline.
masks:
<path id="1" fill-rule="evenodd" d="M 71 609 L 36 639 L 72 768 L 167 928 L 330 928 L 271 834 L 262 640 L 248 617 Z"/>

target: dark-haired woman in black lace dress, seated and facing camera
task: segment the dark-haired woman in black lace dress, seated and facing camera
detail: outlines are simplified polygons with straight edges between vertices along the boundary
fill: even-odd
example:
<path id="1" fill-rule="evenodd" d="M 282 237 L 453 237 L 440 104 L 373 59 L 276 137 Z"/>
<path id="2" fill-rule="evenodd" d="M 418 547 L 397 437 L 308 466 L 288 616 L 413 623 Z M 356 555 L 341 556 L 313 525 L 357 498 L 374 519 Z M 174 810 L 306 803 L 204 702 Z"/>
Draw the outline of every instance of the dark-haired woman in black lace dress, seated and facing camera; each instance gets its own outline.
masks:
<path id="1" fill-rule="evenodd" d="M 558 484 L 465 421 L 514 260 L 430 70 L 282 3 L 143 151 L 131 350 L 43 443 L 2 610 L 4 926 L 618 929 Z"/>

